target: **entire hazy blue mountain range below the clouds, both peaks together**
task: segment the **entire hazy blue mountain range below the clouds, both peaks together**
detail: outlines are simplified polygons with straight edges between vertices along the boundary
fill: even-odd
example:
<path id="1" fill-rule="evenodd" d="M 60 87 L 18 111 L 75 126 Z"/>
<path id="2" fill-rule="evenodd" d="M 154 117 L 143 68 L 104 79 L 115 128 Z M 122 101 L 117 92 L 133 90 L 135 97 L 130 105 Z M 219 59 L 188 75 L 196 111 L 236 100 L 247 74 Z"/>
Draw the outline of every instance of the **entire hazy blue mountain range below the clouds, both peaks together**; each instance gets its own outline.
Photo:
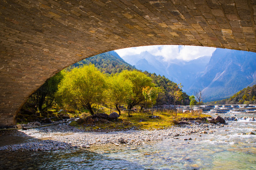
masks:
<path id="1" fill-rule="evenodd" d="M 142 71 L 164 75 L 183 85 L 192 95 L 204 91 L 204 102 L 230 97 L 239 90 L 256 84 L 256 53 L 228 49 L 216 49 L 212 57 L 191 61 L 164 62 L 160 56 L 149 52 L 123 58 Z"/>

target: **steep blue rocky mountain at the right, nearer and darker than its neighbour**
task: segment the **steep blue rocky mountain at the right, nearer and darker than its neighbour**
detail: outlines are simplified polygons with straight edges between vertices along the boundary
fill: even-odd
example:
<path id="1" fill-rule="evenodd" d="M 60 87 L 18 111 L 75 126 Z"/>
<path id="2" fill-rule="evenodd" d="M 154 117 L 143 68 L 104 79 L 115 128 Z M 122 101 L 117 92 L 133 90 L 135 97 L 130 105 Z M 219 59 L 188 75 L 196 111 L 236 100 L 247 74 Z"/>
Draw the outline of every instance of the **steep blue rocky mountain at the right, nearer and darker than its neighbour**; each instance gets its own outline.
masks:
<path id="1" fill-rule="evenodd" d="M 230 97 L 243 88 L 256 84 L 256 53 L 217 49 L 205 70 L 190 86 L 188 93 L 201 89 L 204 101 Z"/>

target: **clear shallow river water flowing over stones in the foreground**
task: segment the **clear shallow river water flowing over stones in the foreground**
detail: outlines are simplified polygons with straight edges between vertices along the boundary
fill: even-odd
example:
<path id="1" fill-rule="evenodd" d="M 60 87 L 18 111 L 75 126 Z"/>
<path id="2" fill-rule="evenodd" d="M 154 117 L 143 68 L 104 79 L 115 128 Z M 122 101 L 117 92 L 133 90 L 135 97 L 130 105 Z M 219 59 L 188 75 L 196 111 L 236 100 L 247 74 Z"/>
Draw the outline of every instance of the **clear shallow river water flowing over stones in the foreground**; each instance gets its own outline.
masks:
<path id="1" fill-rule="evenodd" d="M 3 170 L 256 170 L 255 121 L 228 121 L 214 133 L 142 145 L 101 144 L 49 152 L 0 151 Z M 184 140 L 185 138 L 192 140 Z"/>

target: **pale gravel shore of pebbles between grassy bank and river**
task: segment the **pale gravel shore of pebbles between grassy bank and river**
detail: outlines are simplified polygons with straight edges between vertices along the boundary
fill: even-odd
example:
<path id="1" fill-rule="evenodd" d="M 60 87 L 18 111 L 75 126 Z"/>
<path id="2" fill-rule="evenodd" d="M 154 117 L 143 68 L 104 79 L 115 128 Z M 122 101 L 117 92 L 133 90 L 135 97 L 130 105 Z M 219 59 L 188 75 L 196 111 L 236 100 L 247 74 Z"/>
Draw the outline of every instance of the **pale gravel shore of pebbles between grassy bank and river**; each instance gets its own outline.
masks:
<path id="1" fill-rule="evenodd" d="M 0 132 L 0 137 L 29 136 L 21 144 L 10 144 L 0 147 L 6 151 L 50 151 L 65 150 L 77 147 L 89 148 L 95 144 L 141 145 L 148 141 L 179 138 L 179 136 L 201 135 L 214 133 L 221 124 L 191 123 L 189 125 L 173 126 L 162 130 L 126 130 L 114 132 L 86 132 L 83 129 L 71 127 L 67 123 L 28 130 L 11 130 Z M 181 139 L 180 139 L 181 140 Z M 182 139 L 183 140 L 183 139 Z M 185 140 L 185 139 L 184 139 Z"/>

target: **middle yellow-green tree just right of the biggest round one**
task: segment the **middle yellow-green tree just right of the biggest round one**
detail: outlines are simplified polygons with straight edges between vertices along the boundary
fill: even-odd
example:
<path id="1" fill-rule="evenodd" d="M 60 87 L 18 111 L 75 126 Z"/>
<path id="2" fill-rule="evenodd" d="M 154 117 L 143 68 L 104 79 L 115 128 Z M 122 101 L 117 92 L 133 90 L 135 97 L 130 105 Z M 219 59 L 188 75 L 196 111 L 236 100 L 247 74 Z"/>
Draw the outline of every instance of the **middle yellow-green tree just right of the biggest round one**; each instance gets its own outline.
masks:
<path id="1" fill-rule="evenodd" d="M 115 74 L 108 80 L 109 88 L 108 95 L 111 102 L 114 103 L 115 108 L 121 115 L 121 110 L 118 105 L 127 100 L 127 96 L 133 95 L 133 84 L 130 80 L 125 79 L 123 76 Z"/>

